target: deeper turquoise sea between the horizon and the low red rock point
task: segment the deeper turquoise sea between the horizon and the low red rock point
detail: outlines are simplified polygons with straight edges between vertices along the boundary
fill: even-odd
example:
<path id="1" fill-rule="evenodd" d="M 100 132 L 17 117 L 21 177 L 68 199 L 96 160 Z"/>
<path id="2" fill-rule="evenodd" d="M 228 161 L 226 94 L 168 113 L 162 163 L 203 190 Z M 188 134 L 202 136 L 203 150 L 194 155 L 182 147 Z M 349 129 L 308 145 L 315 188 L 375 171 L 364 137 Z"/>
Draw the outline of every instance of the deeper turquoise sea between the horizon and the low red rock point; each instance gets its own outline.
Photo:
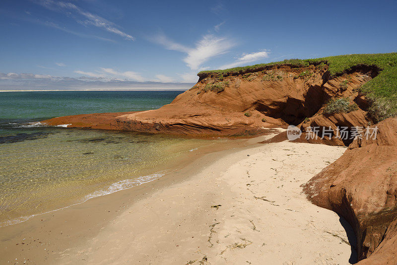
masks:
<path id="1" fill-rule="evenodd" d="M 53 117 L 157 109 L 183 91 L 0 92 L 0 136 L 24 131 L 20 124 Z M 16 129 L 16 130 L 14 130 Z M 26 128 L 25 128 L 26 129 Z"/>

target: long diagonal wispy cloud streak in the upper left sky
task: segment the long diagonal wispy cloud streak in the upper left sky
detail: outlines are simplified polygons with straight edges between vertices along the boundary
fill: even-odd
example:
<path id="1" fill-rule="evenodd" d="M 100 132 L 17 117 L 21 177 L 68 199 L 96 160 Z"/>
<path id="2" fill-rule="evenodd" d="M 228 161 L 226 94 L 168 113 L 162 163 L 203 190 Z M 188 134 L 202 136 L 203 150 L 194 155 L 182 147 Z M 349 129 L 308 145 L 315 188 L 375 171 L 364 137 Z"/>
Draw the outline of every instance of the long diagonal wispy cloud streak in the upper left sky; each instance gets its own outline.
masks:
<path id="1" fill-rule="evenodd" d="M 84 25 L 93 25 L 95 27 L 102 28 L 108 32 L 117 34 L 125 38 L 126 40 L 134 40 L 134 38 L 130 34 L 118 29 L 115 23 L 108 21 L 107 19 L 99 15 L 84 11 L 73 3 L 54 0 L 39 0 L 38 3 L 50 10 L 63 12 L 66 15 L 69 15 L 73 17 L 78 23 Z"/>

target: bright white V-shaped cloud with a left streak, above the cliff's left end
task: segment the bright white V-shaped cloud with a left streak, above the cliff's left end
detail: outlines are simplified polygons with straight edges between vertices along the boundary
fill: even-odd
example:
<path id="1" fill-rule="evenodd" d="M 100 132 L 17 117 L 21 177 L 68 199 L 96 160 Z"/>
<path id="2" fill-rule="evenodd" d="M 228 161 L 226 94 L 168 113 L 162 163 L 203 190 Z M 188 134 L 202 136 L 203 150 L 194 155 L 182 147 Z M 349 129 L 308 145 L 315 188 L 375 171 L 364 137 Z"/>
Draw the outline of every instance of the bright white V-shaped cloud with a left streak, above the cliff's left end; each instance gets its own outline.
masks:
<path id="1" fill-rule="evenodd" d="M 183 61 L 192 70 L 197 70 L 212 57 L 225 54 L 230 48 L 235 46 L 234 42 L 225 37 L 216 37 L 213 34 L 204 35 L 196 43 L 195 48 L 190 48 L 168 39 L 165 35 L 158 35 L 152 40 L 163 45 L 168 50 L 186 53 L 187 56 Z"/>

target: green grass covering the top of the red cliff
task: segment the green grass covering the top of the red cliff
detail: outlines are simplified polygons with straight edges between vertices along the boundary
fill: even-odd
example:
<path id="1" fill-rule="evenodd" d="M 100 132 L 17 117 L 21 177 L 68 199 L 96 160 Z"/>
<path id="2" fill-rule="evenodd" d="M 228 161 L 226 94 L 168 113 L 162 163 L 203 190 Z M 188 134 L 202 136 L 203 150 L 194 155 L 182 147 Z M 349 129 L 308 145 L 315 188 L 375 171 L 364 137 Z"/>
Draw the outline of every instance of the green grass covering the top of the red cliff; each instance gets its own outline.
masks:
<path id="1" fill-rule="evenodd" d="M 305 67 L 325 63 L 331 76 L 340 75 L 354 66 L 373 66 L 380 69 L 378 76 L 361 87 L 361 92 L 370 101 L 369 114 L 376 121 L 397 116 L 397 53 L 390 54 L 351 54 L 317 59 L 291 59 L 281 62 L 259 64 L 254 66 L 234 67 L 224 70 L 201 71 L 198 75 L 216 74 L 233 75 L 262 70 L 266 66 L 289 65 Z"/>

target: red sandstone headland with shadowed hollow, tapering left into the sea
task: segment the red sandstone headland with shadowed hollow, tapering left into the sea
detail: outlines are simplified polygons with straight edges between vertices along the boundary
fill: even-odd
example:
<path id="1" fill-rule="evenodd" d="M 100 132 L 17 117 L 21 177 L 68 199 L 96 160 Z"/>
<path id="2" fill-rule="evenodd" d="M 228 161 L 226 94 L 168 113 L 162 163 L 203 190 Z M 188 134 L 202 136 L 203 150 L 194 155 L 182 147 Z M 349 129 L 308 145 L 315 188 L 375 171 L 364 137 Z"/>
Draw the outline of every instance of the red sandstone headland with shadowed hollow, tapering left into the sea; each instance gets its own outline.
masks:
<path id="1" fill-rule="evenodd" d="M 326 80 L 327 66 L 277 66 L 237 76 L 208 76 L 175 100 L 157 110 L 120 114 L 90 114 L 54 118 L 48 125 L 173 133 L 195 136 L 254 135 L 266 128 L 312 123 L 365 124 L 364 111 L 334 117 L 322 116 L 325 102 L 334 96 L 358 97 L 355 89 L 370 77 L 351 73 Z M 348 80 L 346 87 L 340 84 Z M 346 122 L 347 121 L 347 122 Z M 343 144 L 337 142 L 335 144 Z"/>

